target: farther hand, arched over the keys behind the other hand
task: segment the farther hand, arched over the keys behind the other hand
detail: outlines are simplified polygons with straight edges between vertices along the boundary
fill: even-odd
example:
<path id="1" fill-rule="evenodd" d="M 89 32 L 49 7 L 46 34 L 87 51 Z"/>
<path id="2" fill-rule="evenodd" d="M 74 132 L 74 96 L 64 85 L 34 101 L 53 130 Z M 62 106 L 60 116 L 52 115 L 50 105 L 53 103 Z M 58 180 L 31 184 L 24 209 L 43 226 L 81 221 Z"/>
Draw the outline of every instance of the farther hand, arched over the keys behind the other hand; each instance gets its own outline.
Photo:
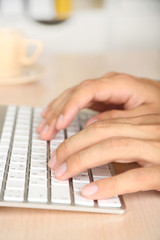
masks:
<path id="1" fill-rule="evenodd" d="M 50 140 L 69 126 L 83 108 L 101 112 L 87 122 L 89 125 L 100 119 L 160 113 L 159 102 L 159 82 L 108 73 L 99 79 L 83 81 L 54 99 L 43 111 L 44 120 L 37 131 L 41 139 Z"/>

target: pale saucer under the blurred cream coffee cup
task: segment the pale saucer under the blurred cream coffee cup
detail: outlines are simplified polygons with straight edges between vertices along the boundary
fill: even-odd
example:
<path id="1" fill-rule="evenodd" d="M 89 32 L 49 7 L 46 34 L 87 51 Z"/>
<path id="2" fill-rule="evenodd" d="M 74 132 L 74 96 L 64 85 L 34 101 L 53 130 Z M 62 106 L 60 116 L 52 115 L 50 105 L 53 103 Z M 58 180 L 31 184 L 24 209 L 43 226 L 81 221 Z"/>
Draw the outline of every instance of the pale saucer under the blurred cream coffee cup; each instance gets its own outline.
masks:
<path id="1" fill-rule="evenodd" d="M 0 85 L 17 85 L 36 82 L 40 79 L 43 69 L 40 66 L 25 67 L 17 77 L 0 78 Z"/>

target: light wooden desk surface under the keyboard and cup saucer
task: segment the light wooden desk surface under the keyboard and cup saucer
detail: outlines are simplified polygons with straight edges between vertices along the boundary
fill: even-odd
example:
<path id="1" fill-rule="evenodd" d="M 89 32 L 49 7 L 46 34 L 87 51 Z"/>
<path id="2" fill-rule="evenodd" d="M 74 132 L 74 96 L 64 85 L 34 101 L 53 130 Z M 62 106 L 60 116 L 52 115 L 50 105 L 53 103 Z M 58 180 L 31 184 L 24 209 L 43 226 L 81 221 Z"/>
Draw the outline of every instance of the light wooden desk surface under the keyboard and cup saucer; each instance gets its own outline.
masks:
<path id="1" fill-rule="evenodd" d="M 65 88 L 111 70 L 160 79 L 160 55 L 153 52 L 43 56 L 40 64 L 45 73 L 38 82 L 1 86 L 0 103 L 45 106 Z M 131 167 L 134 164 L 115 166 L 117 173 Z M 160 194 L 127 194 L 124 200 L 127 211 L 120 216 L 0 208 L 0 239 L 159 240 Z"/>

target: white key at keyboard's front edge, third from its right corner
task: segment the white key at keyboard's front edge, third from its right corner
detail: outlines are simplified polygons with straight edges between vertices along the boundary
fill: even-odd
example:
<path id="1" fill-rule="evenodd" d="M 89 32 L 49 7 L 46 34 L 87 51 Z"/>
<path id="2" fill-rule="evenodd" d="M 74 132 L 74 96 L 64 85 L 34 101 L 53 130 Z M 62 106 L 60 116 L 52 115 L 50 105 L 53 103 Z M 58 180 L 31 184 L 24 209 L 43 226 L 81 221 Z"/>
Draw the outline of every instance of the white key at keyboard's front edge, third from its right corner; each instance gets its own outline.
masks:
<path id="1" fill-rule="evenodd" d="M 51 202 L 52 203 L 64 203 L 70 204 L 70 191 L 69 187 L 54 185 L 51 187 Z"/>

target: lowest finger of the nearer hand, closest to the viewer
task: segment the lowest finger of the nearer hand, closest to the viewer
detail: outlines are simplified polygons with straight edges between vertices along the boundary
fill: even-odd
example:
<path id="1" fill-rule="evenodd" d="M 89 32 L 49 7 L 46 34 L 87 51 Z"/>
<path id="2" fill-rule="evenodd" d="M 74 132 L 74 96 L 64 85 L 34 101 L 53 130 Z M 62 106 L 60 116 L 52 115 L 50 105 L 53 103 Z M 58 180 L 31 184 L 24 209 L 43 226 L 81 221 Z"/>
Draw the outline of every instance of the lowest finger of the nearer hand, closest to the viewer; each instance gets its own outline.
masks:
<path id="1" fill-rule="evenodd" d="M 160 191 L 160 166 L 138 168 L 86 185 L 81 193 L 89 199 L 106 199 L 127 193 Z"/>

